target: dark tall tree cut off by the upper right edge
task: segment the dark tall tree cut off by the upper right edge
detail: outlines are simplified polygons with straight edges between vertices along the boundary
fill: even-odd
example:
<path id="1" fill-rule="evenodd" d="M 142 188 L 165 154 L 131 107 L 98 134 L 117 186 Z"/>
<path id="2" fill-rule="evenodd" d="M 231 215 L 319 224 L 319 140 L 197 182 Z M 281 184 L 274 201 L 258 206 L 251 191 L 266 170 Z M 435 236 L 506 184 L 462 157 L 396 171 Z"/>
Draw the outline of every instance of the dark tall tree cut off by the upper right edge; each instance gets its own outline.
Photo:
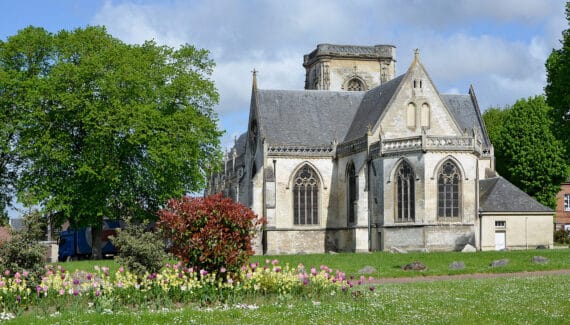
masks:
<path id="1" fill-rule="evenodd" d="M 566 3 L 566 20 L 570 24 L 570 2 Z M 562 47 L 553 49 L 546 60 L 547 102 L 553 108 L 554 132 L 570 153 L 570 28 L 562 32 Z M 570 162 L 570 155 L 566 156 Z"/>

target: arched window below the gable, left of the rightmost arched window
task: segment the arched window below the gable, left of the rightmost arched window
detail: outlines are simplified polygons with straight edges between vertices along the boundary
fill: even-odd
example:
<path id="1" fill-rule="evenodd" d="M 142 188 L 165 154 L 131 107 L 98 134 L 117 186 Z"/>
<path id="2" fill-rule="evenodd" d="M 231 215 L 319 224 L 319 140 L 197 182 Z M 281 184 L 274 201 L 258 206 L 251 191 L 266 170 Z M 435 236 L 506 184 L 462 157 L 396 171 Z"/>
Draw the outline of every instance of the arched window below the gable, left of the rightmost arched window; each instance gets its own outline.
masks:
<path id="1" fill-rule="evenodd" d="M 396 170 L 397 190 L 396 221 L 409 222 L 415 220 L 415 188 L 414 171 L 408 162 L 402 161 Z"/>

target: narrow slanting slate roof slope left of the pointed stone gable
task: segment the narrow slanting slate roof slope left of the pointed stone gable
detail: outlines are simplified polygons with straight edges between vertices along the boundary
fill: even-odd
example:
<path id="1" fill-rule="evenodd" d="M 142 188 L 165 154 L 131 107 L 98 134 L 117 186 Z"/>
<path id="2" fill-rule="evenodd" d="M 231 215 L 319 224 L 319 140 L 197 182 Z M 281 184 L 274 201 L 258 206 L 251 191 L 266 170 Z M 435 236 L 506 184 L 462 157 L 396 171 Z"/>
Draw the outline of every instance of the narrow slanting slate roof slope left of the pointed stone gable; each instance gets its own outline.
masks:
<path id="1" fill-rule="evenodd" d="M 400 75 L 366 92 L 344 138 L 345 142 L 363 136 L 368 130 L 368 125 L 373 127 L 376 124 L 398 86 L 404 80 L 404 76 L 405 74 Z"/>

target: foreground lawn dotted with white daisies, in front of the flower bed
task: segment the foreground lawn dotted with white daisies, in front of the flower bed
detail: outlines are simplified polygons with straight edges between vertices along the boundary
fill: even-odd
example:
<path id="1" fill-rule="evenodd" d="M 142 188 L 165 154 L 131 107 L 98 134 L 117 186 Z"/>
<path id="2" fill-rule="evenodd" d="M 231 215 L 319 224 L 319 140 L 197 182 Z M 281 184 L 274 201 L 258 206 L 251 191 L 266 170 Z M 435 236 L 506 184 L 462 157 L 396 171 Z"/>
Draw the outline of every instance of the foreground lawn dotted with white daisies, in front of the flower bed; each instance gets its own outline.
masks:
<path id="1" fill-rule="evenodd" d="M 365 290 L 366 288 L 363 288 Z M 26 314 L 19 324 L 568 324 L 570 276 L 386 284 L 363 295 L 247 305 Z"/>

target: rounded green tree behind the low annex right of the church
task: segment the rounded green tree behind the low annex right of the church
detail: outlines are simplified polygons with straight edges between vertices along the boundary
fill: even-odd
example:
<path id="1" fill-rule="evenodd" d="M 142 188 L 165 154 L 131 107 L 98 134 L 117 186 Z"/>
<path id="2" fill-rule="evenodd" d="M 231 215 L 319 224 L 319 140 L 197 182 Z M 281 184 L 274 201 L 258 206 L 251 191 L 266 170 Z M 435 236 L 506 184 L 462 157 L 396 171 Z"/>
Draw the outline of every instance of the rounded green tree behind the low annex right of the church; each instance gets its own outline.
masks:
<path id="1" fill-rule="evenodd" d="M 552 133 L 552 108 L 544 96 L 518 100 L 512 107 L 483 114 L 495 148 L 496 169 L 544 205 L 556 205 L 556 193 L 568 173 L 562 143 Z"/>

